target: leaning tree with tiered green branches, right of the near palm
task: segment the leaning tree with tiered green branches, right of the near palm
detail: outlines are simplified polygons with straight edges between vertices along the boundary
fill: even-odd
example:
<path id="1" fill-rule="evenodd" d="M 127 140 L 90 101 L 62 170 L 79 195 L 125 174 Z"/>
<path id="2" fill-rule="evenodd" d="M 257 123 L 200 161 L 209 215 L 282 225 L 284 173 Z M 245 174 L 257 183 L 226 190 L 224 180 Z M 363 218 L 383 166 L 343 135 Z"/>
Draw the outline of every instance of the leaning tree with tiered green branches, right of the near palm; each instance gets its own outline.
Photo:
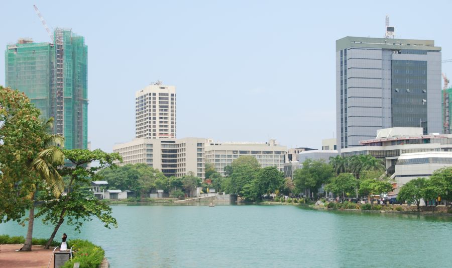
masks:
<path id="1" fill-rule="evenodd" d="M 53 241 L 55 234 L 61 224 L 67 219 L 69 225 L 75 225 L 76 230 L 80 230 L 84 221 L 91 220 L 92 216 L 97 217 L 104 226 L 117 226 L 117 221 L 111 216 L 111 208 L 105 203 L 97 200 L 92 195 L 86 195 L 86 188 L 89 189 L 91 182 L 100 178 L 96 171 L 114 166 L 115 160 L 122 160 L 118 153 L 105 153 L 100 149 L 89 151 L 86 149 L 63 150 L 64 156 L 72 165 L 59 169 L 60 174 L 69 176 L 70 180 L 66 185 L 66 196 L 55 197 L 51 193 L 46 196 L 46 202 L 38 212 L 38 216 L 43 215 L 45 224 L 55 225 L 55 228 L 46 243 L 48 248 Z M 92 161 L 98 161 L 98 166 L 86 168 Z"/>

